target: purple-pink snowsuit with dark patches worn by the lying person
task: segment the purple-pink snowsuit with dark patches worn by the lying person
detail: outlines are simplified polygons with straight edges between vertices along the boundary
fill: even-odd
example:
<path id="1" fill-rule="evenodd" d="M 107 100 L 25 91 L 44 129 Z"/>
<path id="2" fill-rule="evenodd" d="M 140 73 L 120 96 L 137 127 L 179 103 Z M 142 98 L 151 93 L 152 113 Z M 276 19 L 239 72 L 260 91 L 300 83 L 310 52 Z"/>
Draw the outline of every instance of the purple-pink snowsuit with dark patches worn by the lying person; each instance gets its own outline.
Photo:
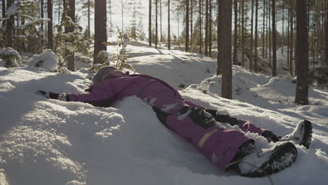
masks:
<path id="1" fill-rule="evenodd" d="M 97 107 L 110 107 L 111 102 L 137 96 L 153 107 L 166 127 L 190 139 L 203 155 L 221 169 L 231 163 L 238 147 L 250 140 L 244 132 L 259 135 L 264 132 L 264 129 L 257 128 L 249 121 L 239 121 L 238 126 L 244 132 L 221 127 L 211 114 L 184 100 L 175 88 L 153 76 L 125 74 L 121 78 L 107 78 L 96 83 L 90 94 L 67 95 L 71 102 L 86 102 Z"/>

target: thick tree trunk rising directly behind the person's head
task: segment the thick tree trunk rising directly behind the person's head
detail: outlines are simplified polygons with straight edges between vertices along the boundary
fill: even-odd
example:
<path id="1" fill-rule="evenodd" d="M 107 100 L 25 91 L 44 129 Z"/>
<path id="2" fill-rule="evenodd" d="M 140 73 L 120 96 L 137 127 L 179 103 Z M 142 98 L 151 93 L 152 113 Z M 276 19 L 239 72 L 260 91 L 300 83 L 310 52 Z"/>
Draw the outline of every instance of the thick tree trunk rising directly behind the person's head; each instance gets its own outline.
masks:
<path id="1" fill-rule="evenodd" d="M 95 1 L 95 50 L 93 53 L 93 64 L 102 64 L 98 53 L 107 50 L 107 13 L 106 0 Z"/>

